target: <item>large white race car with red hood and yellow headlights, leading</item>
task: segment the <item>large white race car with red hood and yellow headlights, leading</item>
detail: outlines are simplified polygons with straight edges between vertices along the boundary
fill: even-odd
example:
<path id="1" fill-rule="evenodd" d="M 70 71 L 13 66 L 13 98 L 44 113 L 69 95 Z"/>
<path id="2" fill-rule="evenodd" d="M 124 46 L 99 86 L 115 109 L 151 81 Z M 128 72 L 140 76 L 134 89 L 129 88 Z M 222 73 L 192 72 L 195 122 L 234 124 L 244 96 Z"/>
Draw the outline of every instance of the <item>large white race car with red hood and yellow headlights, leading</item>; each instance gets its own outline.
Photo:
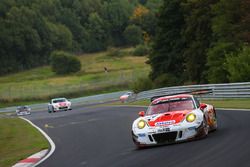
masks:
<path id="1" fill-rule="evenodd" d="M 200 104 L 190 94 L 156 98 L 139 115 L 132 125 L 132 139 L 139 148 L 205 137 L 217 128 L 214 107 Z"/>

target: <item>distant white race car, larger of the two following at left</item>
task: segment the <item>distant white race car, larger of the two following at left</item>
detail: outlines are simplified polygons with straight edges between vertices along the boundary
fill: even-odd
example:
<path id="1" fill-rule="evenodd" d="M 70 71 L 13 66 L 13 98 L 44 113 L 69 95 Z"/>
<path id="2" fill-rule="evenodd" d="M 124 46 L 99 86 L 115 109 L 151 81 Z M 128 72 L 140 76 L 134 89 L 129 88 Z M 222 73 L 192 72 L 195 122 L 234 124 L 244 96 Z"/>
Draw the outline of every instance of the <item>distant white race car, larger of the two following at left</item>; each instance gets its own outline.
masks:
<path id="1" fill-rule="evenodd" d="M 71 110 L 71 102 L 66 98 L 51 99 L 50 103 L 48 104 L 48 112 L 51 113 L 62 110 Z"/>

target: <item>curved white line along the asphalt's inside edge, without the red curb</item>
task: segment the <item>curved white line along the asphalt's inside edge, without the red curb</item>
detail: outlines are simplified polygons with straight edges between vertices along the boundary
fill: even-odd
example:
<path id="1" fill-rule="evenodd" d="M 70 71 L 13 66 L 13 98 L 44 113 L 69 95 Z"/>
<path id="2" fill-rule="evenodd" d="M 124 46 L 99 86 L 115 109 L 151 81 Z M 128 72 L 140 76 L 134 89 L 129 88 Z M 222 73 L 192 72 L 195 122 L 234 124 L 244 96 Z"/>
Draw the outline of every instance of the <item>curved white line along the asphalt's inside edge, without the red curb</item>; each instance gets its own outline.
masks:
<path id="1" fill-rule="evenodd" d="M 39 128 L 39 127 L 36 126 L 34 123 L 32 123 L 30 120 L 28 120 L 28 119 L 26 119 L 26 118 L 24 118 L 24 117 L 19 117 L 19 118 L 21 118 L 21 119 L 27 121 L 27 122 L 30 123 L 33 127 L 35 127 L 38 131 L 40 131 L 40 132 L 43 134 L 43 136 L 44 136 L 44 137 L 48 140 L 48 142 L 50 143 L 50 150 L 49 150 L 49 153 L 48 153 L 45 157 L 43 157 L 38 163 L 36 163 L 36 164 L 34 165 L 34 167 L 35 167 L 35 166 L 41 164 L 42 162 L 44 162 L 46 159 L 48 159 L 48 158 L 54 153 L 54 151 L 55 151 L 55 149 L 56 149 L 56 145 L 55 145 L 55 143 L 52 141 L 52 139 L 51 139 L 51 138 L 50 138 L 41 128 Z"/>

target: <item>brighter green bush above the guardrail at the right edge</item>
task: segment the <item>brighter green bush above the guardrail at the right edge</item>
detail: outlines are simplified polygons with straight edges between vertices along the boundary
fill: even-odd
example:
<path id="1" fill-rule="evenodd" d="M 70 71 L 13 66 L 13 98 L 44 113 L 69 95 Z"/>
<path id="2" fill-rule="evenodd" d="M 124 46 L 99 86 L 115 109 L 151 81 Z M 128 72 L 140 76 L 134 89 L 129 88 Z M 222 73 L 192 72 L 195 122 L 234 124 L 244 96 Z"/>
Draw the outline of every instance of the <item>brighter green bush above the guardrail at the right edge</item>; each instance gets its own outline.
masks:
<path id="1" fill-rule="evenodd" d="M 226 56 L 226 70 L 231 82 L 250 81 L 250 47 L 244 46 L 237 53 L 230 53 Z"/>

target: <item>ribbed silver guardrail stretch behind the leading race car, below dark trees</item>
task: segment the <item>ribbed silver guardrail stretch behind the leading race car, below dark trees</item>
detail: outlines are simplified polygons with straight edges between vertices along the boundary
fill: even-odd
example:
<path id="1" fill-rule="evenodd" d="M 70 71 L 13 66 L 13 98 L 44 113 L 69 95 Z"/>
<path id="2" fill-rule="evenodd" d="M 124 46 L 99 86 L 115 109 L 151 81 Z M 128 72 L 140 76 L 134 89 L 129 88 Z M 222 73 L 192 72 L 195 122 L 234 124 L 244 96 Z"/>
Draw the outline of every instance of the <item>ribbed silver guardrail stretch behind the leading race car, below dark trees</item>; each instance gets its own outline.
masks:
<path id="1" fill-rule="evenodd" d="M 212 90 L 212 93 L 198 96 L 205 99 L 250 98 L 250 82 L 242 82 L 242 83 L 227 83 L 227 84 L 174 86 L 174 87 L 154 89 L 138 93 L 136 100 L 150 99 L 153 96 L 195 91 L 201 89 Z"/>

